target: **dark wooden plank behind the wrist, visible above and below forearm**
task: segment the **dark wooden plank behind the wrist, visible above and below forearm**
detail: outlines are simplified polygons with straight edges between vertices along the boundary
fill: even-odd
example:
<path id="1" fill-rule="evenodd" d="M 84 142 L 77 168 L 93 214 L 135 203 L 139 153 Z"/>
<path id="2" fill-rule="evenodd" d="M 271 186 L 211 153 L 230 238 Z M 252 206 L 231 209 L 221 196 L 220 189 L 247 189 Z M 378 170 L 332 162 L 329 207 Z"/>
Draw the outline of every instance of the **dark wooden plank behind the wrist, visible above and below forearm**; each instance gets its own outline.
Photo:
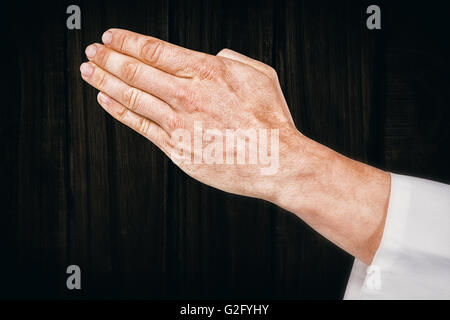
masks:
<path id="1" fill-rule="evenodd" d="M 298 128 L 368 161 L 376 74 L 364 3 L 286 1 L 276 15 L 275 66 Z M 276 275 L 283 297 L 339 298 L 350 256 L 282 211 L 276 217 Z"/>

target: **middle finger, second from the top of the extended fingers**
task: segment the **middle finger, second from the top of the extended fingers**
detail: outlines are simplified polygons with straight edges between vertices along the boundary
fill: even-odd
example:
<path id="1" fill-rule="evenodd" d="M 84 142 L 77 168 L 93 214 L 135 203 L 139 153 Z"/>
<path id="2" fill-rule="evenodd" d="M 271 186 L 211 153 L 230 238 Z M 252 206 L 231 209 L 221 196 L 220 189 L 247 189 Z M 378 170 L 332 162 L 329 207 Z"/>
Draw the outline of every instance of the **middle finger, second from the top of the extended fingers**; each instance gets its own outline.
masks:
<path id="1" fill-rule="evenodd" d="M 86 56 L 100 68 L 129 85 L 171 105 L 176 103 L 177 88 L 187 85 L 186 79 L 175 77 L 100 44 L 92 44 L 87 47 Z"/>

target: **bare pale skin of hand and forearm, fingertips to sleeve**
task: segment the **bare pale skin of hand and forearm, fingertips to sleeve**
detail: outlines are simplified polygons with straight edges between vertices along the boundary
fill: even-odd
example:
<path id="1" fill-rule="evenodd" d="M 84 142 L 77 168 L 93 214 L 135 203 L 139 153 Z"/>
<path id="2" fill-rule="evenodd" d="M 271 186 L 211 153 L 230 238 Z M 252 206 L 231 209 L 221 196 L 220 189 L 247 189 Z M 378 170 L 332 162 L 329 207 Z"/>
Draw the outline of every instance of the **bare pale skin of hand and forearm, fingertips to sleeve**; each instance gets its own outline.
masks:
<path id="1" fill-rule="evenodd" d="M 387 172 L 344 157 L 297 130 L 275 70 L 224 49 L 216 56 L 110 29 L 86 48 L 82 78 L 99 104 L 212 187 L 270 201 L 366 264 L 379 247 L 390 194 Z M 279 129 L 279 169 L 187 164 L 174 159 L 172 133 L 205 128 Z M 226 152 L 226 150 L 225 150 Z M 193 156 L 193 155 L 192 155 Z"/>

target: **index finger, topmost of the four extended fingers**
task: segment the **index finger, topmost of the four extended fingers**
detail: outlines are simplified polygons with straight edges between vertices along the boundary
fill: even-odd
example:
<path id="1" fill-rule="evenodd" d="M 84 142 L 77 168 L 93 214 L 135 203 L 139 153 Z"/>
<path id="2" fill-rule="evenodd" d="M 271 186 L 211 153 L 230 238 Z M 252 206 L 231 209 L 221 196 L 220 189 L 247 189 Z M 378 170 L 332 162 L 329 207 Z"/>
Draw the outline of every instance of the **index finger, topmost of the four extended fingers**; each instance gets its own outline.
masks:
<path id="1" fill-rule="evenodd" d="M 122 29 L 109 29 L 102 36 L 105 46 L 178 77 L 208 78 L 209 54 L 189 50 L 163 40 Z"/>

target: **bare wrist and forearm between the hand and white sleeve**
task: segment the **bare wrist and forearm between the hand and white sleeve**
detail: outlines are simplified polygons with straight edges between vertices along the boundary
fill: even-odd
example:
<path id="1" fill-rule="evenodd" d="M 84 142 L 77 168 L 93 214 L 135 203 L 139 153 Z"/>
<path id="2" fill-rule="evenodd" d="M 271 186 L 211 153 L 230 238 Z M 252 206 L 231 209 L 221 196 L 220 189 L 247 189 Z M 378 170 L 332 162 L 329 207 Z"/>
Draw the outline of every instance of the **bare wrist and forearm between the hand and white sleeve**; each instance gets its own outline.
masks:
<path id="1" fill-rule="evenodd" d="M 387 172 L 306 138 L 290 150 L 289 171 L 270 199 L 370 264 L 381 241 L 390 193 Z"/>

